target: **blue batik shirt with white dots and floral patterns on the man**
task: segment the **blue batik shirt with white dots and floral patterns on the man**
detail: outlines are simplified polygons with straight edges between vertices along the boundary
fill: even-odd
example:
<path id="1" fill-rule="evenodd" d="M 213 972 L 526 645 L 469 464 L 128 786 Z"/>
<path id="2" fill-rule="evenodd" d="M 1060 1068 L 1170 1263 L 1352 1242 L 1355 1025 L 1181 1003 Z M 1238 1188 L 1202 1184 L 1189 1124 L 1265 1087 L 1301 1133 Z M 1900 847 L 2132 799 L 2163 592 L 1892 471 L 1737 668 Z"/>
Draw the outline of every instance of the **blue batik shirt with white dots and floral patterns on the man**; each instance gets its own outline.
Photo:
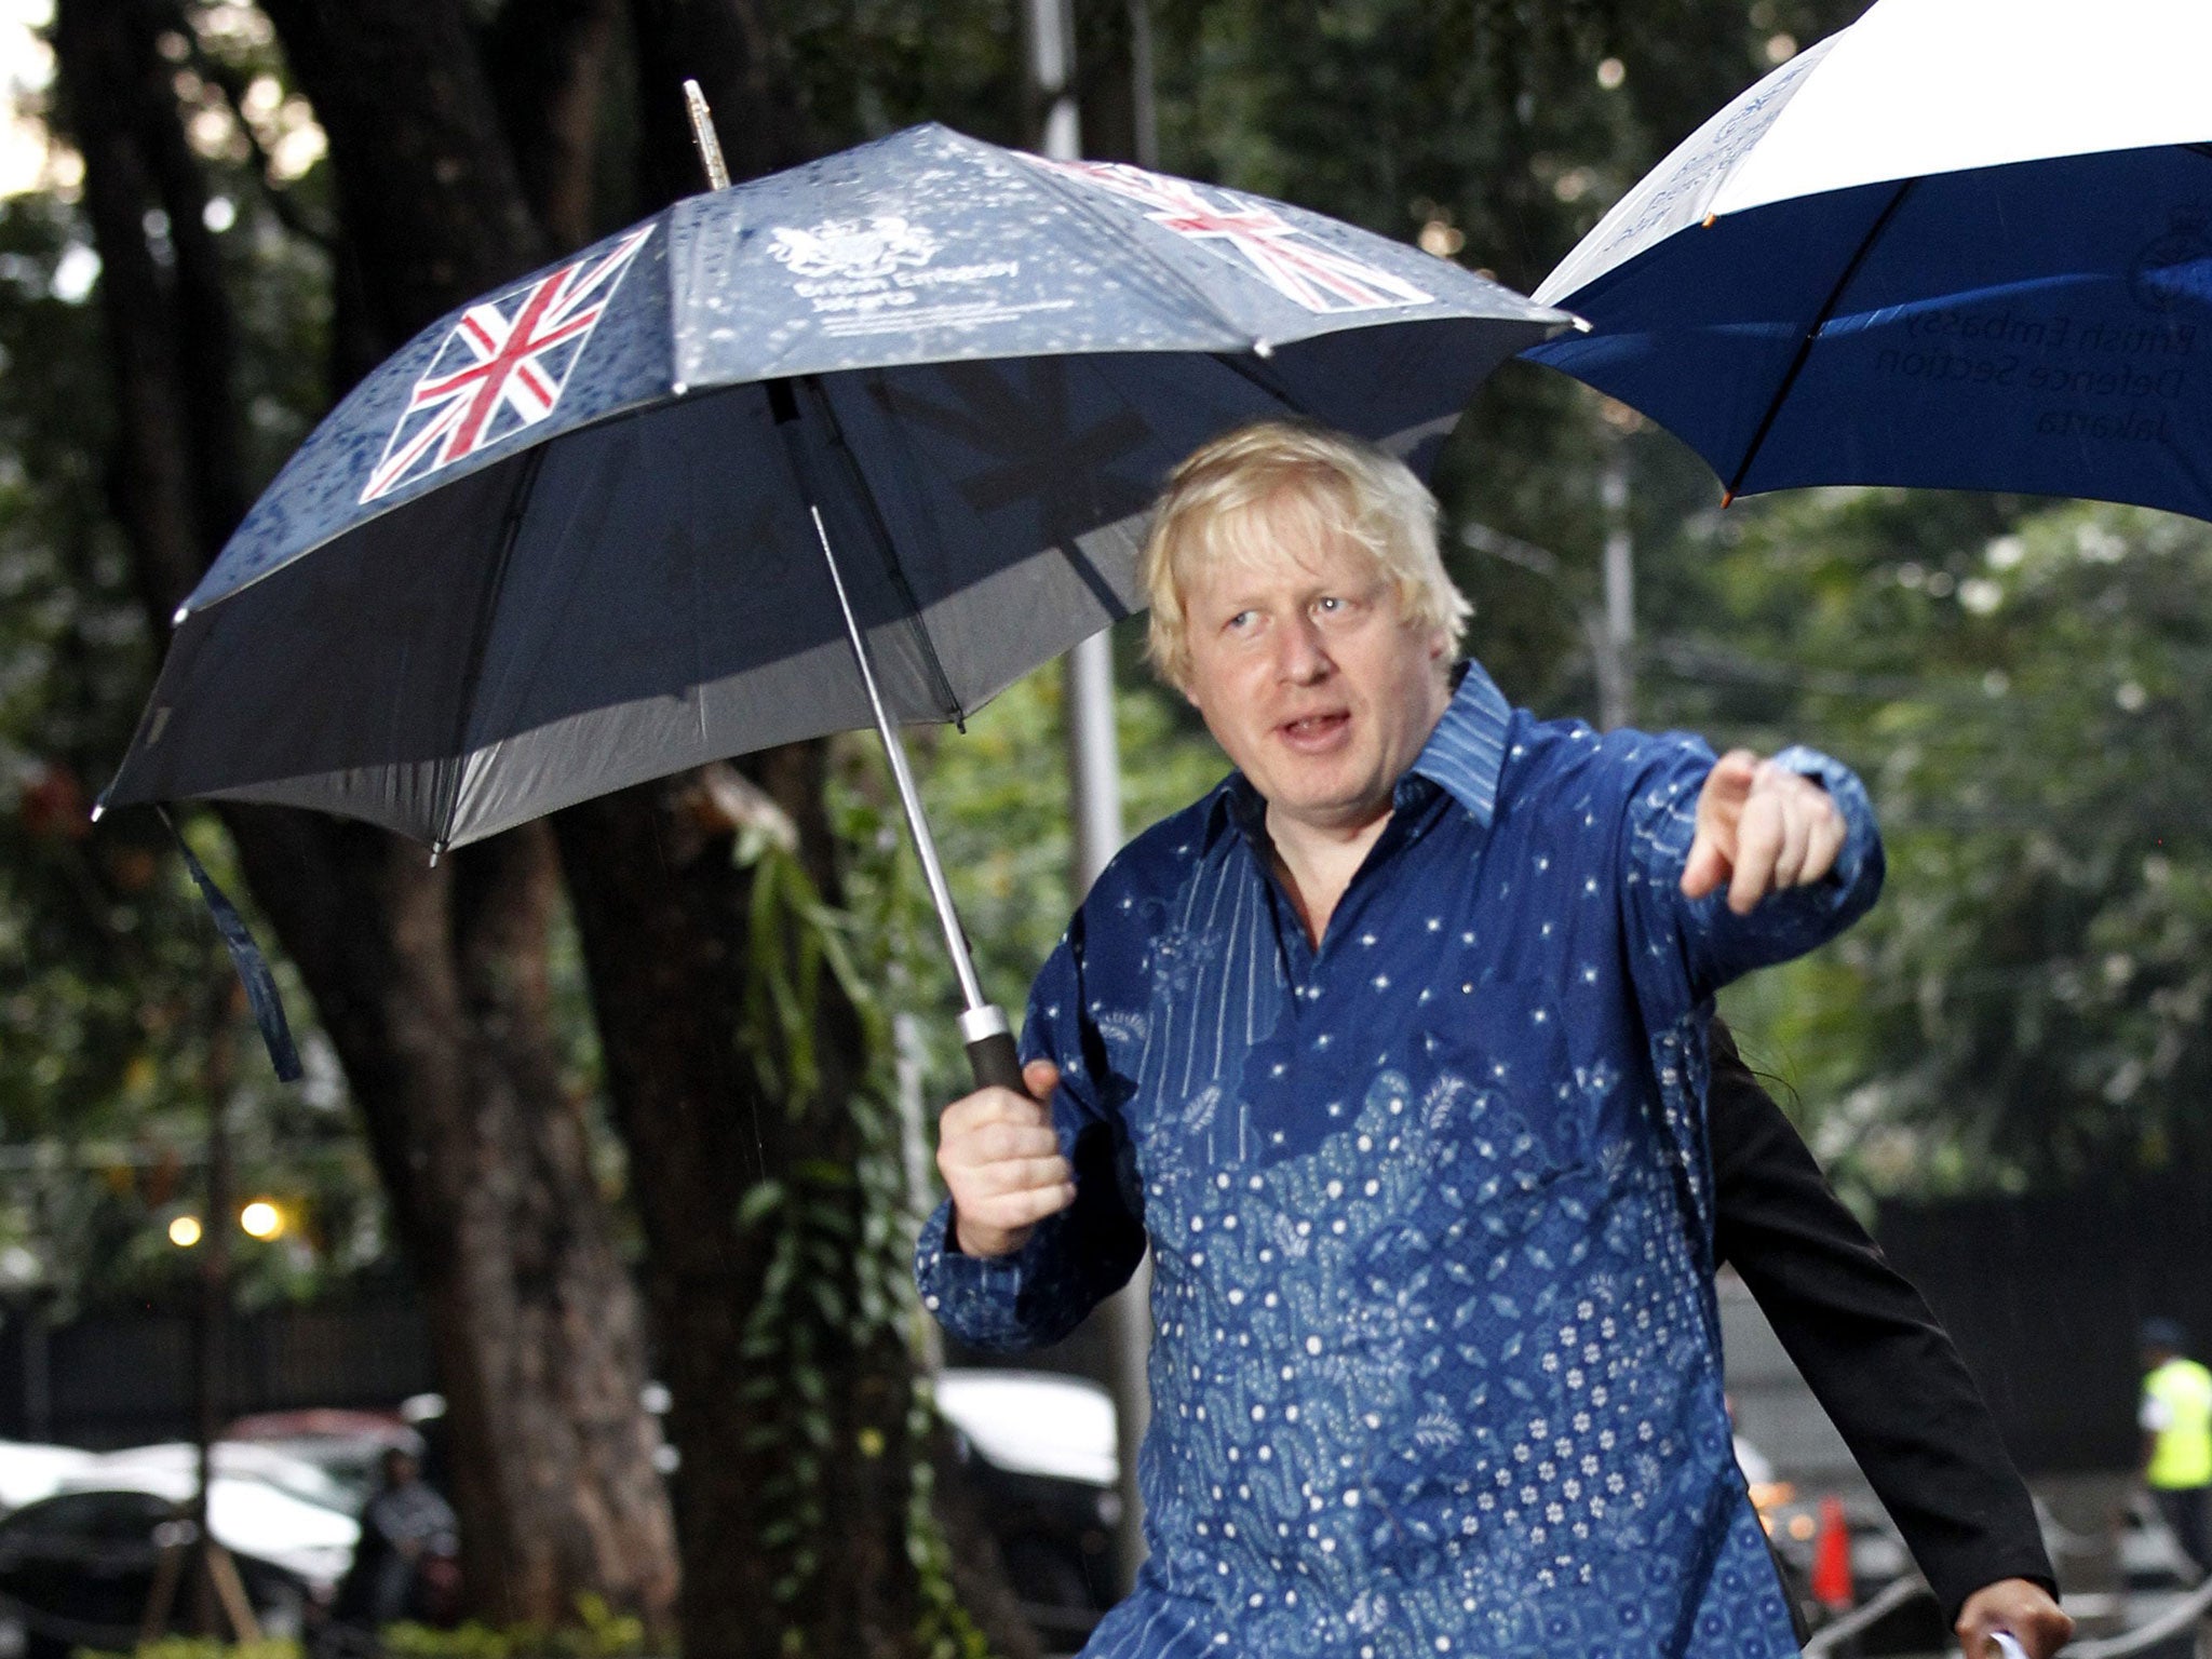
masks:
<path id="1" fill-rule="evenodd" d="M 1018 1349 L 1146 1234 L 1150 1559 L 1095 1659 L 1796 1652 L 1721 1405 L 1705 1015 L 1880 887 L 1681 894 L 1712 752 L 1506 706 L 1471 668 L 1318 949 L 1239 776 L 1139 836 L 1037 975 L 1077 1201 L 918 1279 Z"/>

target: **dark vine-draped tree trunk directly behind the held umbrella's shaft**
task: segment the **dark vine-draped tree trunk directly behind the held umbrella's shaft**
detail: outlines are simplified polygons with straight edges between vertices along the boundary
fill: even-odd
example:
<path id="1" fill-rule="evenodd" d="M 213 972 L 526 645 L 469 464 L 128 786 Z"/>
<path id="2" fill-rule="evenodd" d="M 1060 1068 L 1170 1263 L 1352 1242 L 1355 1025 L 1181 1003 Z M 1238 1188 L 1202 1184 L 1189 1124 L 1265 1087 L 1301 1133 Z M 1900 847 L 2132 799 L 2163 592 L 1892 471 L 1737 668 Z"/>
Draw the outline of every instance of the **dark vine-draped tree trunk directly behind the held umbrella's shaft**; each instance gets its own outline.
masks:
<path id="1" fill-rule="evenodd" d="M 703 188 L 677 88 L 697 77 L 714 108 L 737 179 L 807 159 L 805 111 L 783 42 L 754 0 L 633 0 L 633 55 L 644 208 Z M 823 812 L 825 743 L 750 757 L 748 779 L 796 830 L 801 860 L 836 896 L 836 845 Z M 823 998 L 827 1057 L 814 1099 L 792 1106 L 763 1088 L 757 1057 L 737 1051 L 745 1004 L 750 883 L 734 865 L 728 779 L 708 768 L 626 790 L 555 818 L 568 894 L 591 969 L 608 1097 L 630 1157 L 630 1194 L 646 1232 L 644 1283 L 668 1431 L 684 1455 L 677 1533 L 686 1659 L 768 1659 L 799 1632 L 814 1655 L 918 1652 L 922 1586 L 907 1557 L 916 1464 L 936 1464 L 936 1515 L 951 1548 L 960 1601 L 1004 1659 L 1035 1655 L 984 1517 L 940 1436 L 909 1433 L 914 1356 L 896 1334 L 841 1343 L 827 1371 L 830 1436 L 821 1455 L 823 1535 L 841 1551 L 807 1590 L 776 1599 L 783 1564 L 763 1535 L 787 1520 L 779 1478 L 787 1440 L 768 1440 L 781 1402 L 754 1402 L 785 1383 L 745 1352 L 779 1243 L 774 1225 L 739 1225 L 761 1181 L 790 1183 L 821 1159 L 858 1157 L 854 1088 L 865 1077 L 860 1029 Z M 858 1190 L 847 1194 L 856 1237 Z M 849 1290 L 841 1285 L 838 1290 Z"/>

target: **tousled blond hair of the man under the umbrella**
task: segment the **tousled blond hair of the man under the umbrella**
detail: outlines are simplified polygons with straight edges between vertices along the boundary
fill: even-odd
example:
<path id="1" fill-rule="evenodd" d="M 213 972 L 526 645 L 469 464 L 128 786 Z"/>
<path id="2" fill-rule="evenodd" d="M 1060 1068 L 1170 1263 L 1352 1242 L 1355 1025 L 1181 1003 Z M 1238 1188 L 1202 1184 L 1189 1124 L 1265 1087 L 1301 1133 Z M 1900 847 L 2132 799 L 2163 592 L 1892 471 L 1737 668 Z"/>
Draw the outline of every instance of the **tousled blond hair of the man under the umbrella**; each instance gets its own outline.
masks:
<path id="1" fill-rule="evenodd" d="M 1254 420 L 1199 449 L 1168 478 L 1137 577 L 1152 606 L 1146 655 L 1175 688 L 1190 684 L 1181 582 L 1194 562 L 1265 560 L 1283 531 L 1343 533 L 1398 595 L 1400 619 L 1442 628 L 1451 650 L 1473 606 L 1444 575 L 1436 495 L 1371 442 L 1303 420 Z"/>

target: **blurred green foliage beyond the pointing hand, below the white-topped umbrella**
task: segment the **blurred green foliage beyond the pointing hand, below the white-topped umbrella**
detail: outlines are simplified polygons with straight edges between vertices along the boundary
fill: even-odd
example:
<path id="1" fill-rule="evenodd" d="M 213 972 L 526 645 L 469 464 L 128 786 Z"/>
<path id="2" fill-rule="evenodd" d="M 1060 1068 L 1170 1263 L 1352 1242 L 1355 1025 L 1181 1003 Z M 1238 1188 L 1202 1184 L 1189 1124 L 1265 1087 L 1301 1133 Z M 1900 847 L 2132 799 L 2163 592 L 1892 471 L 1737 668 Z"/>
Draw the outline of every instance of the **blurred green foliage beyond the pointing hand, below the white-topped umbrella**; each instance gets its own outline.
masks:
<path id="1" fill-rule="evenodd" d="M 1708 549 L 1754 730 L 1851 757 L 1885 814 L 1882 907 L 1752 1002 L 1820 1055 L 1823 1150 L 1885 1190 L 2212 1159 L 2212 529 L 2008 518 L 1816 491 Z"/>

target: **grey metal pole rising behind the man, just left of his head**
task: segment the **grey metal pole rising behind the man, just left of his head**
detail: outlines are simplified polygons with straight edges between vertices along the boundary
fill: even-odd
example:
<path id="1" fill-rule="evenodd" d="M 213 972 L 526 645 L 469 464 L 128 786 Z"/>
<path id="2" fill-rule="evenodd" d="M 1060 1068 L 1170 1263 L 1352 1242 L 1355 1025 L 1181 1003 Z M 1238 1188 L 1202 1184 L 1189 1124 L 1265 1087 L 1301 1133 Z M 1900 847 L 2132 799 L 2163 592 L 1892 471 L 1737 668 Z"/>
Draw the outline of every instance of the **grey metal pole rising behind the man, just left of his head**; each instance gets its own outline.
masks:
<path id="1" fill-rule="evenodd" d="M 1055 161 L 1082 155 L 1082 117 L 1075 104 L 1075 18 L 1068 0 L 1026 0 L 1029 84 L 1037 102 L 1037 148 Z M 1133 24 L 1137 22 L 1133 13 Z M 1137 86 L 1137 150 L 1150 161 L 1150 31 L 1133 33 Z M 1073 860 L 1068 885 L 1075 902 L 1121 849 L 1121 757 L 1113 726 L 1113 641 L 1097 633 L 1066 655 L 1064 708 L 1068 739 L 1068 818 Z M 1115 1557 L 1124 1595 L 1144 1566 L 1144 1500 L 1137 1493 L 1137 1447 L 1150 1420 L 1146 1360 L 1152 1347 L 1152 1263 L 1137 1263 L 1128 1285 L 1104 1307 L 1108 1343 L 1108 1387 L 1115 1405 L 1119 1447 L 1121 1513 L 1115 1524 Z"/>

